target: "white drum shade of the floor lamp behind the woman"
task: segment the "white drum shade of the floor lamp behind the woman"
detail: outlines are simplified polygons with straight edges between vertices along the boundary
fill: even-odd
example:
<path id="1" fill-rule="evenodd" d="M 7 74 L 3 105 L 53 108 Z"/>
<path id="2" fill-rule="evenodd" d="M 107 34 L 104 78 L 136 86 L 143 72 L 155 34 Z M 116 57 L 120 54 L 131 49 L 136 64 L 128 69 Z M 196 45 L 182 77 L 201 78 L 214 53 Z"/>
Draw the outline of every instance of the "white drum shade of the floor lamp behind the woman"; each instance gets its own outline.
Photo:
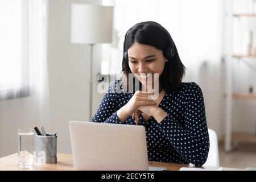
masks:
<path id="1" fill-rule="evenodd" d="M 111 43 L 113 6 L 72 4 L 71 42 Z"/>

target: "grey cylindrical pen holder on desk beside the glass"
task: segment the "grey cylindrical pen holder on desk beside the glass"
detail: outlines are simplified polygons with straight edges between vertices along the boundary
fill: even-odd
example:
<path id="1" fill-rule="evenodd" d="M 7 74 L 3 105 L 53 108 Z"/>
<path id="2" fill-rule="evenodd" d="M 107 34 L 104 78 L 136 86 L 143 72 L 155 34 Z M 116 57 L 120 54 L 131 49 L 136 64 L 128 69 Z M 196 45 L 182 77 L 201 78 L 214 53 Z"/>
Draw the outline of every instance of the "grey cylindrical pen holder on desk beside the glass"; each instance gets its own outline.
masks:
<path id="1" fill-rule="evenodd" d="M 57 136 L 36 135 L 36 159 L 37 163 L 57 163 Z"/>

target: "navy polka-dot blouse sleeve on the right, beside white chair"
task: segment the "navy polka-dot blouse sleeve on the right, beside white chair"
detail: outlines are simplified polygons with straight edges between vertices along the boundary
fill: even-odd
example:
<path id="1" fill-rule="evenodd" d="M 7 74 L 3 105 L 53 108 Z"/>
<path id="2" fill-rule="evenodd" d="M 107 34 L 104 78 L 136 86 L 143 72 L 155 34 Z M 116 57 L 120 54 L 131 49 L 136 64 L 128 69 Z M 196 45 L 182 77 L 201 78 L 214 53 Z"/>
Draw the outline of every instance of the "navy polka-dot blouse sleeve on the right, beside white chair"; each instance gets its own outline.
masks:
<path id="1" fill-rule="evenodd" d="M 192 82 L 187 86 L 183 102 L 184 125 L 169 114 L 158 127 L 185 160 L 195 166 L 202 166 L 208 157 L 209 134 L 203 93 L 199 85 Z"/>

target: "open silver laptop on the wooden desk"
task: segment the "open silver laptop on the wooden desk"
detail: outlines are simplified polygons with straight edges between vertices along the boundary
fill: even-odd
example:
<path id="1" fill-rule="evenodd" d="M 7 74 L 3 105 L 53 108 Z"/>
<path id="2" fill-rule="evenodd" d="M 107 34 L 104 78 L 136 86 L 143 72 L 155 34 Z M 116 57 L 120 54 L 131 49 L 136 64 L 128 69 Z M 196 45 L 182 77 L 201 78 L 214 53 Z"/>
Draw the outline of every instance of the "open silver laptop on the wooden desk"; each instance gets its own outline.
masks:
<path id="1" fill-rule="evenodd" d="M 69 121 L 75 170 L 148 170 L 144 126 Z"/>

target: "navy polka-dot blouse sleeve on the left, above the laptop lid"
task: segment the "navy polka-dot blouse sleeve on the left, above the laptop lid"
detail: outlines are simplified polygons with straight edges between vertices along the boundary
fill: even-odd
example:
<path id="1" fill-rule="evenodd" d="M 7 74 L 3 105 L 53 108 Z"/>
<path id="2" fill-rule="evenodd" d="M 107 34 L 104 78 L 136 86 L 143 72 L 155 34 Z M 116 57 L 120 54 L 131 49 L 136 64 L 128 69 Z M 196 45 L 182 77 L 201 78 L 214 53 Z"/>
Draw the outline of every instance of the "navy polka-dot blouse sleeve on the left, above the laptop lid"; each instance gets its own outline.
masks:
<path id="1" fill-rule="evenodd" d="M 115 92 L 116 84 L 117 82 L 114 82 L 109 87 L 108 92 L 105 93 L 96 113 L 93 115 L 92 119 L 90 119 L 91 122 L 122 124 L 122 122 L 117 117 L 117 93 Z"/>

